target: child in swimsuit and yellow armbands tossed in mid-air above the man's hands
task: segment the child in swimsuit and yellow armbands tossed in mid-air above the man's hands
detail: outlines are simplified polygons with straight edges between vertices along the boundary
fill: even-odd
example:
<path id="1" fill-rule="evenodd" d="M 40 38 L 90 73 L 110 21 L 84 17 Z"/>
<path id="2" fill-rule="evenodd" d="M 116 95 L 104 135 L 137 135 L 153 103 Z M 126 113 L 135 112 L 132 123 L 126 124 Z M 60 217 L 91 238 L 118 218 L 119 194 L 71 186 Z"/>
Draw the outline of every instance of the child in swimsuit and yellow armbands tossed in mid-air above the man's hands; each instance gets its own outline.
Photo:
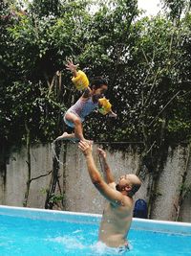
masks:
<path id="1" fill-rule="evenodd" d="M 73 74 L 72 81 L 78 90 L 84 90 L 79 100 L 72 105 L 64 115 L 64 122 L 67 126 L 74 128 L 74 133 L 64 132 L 61 136 L 57 137 L 58 140 L 70 141 L 87 141 L 83 135 L 82 123 L 87 115 L 98 108 L 98 111 L 105 115 L 109 114 L 111 117 L 117 117 L 117 114 L 112 111 L 111 104 L 104 98 L 104 93 L 108 88 L 107 81 L 102 78 L 96 78 L 91 87 L 89 86 L 88 78 L 82 71 L 77 71 L 78 65 L 74 65 L 72 60 L 68 60 L 66 69 L 70 70 Z"/>

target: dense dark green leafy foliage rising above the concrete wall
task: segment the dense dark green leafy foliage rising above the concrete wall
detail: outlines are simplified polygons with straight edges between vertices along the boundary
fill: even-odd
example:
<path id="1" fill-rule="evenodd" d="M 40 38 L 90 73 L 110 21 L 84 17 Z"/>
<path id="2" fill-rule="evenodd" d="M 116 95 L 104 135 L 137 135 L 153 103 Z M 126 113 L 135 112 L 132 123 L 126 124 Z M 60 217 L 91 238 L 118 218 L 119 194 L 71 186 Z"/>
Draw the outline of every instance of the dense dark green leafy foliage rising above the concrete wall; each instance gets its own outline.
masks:
<path id="1" fill-rule="evenodd" d="M 143 141 L 148 148 L 162 132 L 167 142 L 189 139 L 191 18 L 181 17 L 182 1 L 165 3 L 166 15 L 141 19 L 136 0 L 98 1 L 93 14 L 91 1 L 33 1 L 25 11 L 1 6 L 0 123 L 8 145 L 25 141 L 25 122 L 32 141 L 61 132 L 63 112 L 72 95 L 79 97 L 66 58 L 90 80 L 109 81 L 106 97 L 117 120 L 93 113 L 84 125 L 87 137 Z"/>

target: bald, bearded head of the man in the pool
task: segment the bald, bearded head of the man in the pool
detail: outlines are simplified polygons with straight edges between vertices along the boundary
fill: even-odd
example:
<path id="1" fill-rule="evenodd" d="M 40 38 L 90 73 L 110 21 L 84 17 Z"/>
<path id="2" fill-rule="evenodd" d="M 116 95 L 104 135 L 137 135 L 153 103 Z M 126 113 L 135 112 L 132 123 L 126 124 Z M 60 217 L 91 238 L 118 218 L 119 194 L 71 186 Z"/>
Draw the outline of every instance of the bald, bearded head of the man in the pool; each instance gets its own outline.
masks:
<path id="1" fill-rule="evenodd" d="M 127 196 L 133 197 L 141 186 L 137 175 L 121 175 L 117 183 L 117 191 L 125 192 Z"/>

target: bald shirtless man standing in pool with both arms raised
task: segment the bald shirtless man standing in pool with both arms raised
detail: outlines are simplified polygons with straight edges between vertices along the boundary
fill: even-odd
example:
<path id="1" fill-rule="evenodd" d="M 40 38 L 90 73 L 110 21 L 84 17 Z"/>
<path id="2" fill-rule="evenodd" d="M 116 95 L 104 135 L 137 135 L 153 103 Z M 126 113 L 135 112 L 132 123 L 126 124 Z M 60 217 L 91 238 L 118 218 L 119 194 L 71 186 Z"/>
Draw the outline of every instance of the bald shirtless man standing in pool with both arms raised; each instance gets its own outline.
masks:
<path id="1" fill-rule="evenodd" d="M 97 149 L 103 166 L 106 182 L 99 174 L 93 158 L 93 146 L 80 141 L 78 148 L 86 158 L 89 175 L 100 194 L 108 200 L 99 227 L 99 241 L 110 247 L 128 247 L 126 240 L 133 217 L 133 196 L 138 191 L 141 182 L 137 175 L 121 175 L 117 181 L 107 163 L 106 152 Z"/>

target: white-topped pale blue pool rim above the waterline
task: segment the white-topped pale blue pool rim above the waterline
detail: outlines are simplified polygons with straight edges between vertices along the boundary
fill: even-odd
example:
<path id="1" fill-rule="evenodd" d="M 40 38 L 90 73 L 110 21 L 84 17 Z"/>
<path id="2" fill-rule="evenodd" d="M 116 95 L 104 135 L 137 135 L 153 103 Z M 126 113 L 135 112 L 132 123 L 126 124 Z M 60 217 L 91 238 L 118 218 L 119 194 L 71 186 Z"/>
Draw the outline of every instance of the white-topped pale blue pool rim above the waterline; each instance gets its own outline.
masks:
<path id="1" fill-rule="evenodd" d="M 72 221 L 79 223 L 96 224 L 98 224 L 101 219 L 101 215 L 99 214 L 76 213 L 68 211 L 56 211 L 0 205 L 0 216 L 2 215 L 29 218 L 33 220 Z M 191 223 L 187 222 L 154 221 L 134 218 L 132 221 L 131 228 L 191 236 Z"/>

